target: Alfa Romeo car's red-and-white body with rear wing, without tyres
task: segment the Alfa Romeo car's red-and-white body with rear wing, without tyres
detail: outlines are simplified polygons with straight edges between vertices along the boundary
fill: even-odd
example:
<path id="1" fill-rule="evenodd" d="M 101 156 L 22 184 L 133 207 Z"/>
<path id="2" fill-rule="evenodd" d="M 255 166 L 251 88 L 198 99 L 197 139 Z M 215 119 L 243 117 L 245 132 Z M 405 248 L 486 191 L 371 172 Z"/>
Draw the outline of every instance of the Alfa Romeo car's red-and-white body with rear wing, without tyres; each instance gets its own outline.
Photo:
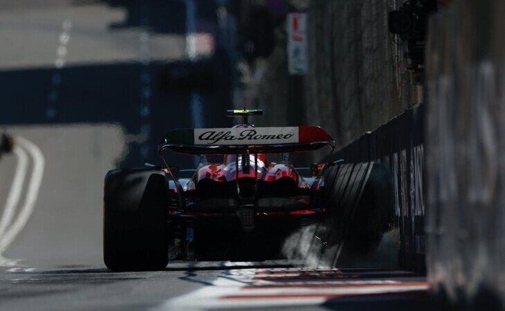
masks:
<path id="1" fill-rule="evenodd" d="M 256 237 L 267 232 L 260 248 L 268 243 L 275 245 L 275 240 L 277 244 L 283 241 L 306 219 L 324 212 L 318 196 L 325 164 L 317 164 L 315 174 L 302 176 L 287 155 L 325 146 L 333 149 L 334 142 L 316 126 L 256 128 L 241 124 L 232 129 L 178 129 L 169 133 L 160 144 L 160 153 L 172 150 L 201 155 L 201 164 L 190 178 L 178 178 L 177 170 L 163 158 L 163 170 L 172 176 L 169 225 L 173 234 L 185 241 L 176 243 L 184 244 L 181 252 L 215 258 L 209 254 L 221 254 L 234 245 L 230 242 L 220 247 L 222 241 L 248 232 Z M 270 162 L 270 153 L 282 153 L 283 160 Z M 208 163 L 205 155 L 223 155 L 223 160 Z M 278 250 L 278 245 L 272 249 Z"/>

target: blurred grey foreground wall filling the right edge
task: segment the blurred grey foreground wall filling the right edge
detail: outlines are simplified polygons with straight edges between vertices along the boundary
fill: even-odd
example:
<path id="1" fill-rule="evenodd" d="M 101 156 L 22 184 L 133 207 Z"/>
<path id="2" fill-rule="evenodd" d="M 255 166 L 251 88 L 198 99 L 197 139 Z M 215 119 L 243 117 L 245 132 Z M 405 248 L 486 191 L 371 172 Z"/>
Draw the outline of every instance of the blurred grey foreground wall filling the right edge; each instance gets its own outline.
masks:
<path id="1" fill-rule="evenodd" d="M 428 279 L 465 310 L 505 303 L 504 15 L 457 1 L 430 21 Z"/>

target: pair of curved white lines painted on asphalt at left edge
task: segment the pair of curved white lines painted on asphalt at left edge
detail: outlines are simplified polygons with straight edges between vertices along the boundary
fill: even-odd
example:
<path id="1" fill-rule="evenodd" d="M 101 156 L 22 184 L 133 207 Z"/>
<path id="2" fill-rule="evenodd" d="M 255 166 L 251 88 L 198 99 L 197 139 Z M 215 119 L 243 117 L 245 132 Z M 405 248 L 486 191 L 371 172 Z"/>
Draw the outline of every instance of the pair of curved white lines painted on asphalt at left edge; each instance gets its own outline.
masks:
<path id="1" fill-rule="evenodd" d="M 42 184 L 42 176 L 44 176 L 45 160 L 39 147 L 33 144 L 33 142 L 30 142 L 30 140 L 21 138 L 19 136 L 15 137 L 15 142 L 17 144 L 17 149 L 15 150 L 18 151 L 16 154 L 19 160 L 17 171 L 15 173 L 15 180 L 12 182 L 12 187 L 10 189 L 10 191 L 14 191 L 15 194 L 9 194 L 8 198 L 11 198 L 12 196 L 12 201 L 15 201 L 16 204 L 10 205 L 12 202 L 8 201 L 8 205 L 5 207 L 5 209 L 3 209 L 2 219 L 0 220 L 0 224 L 3 225 L 5 223 L 5 225 L 1 227 L 3 231 L 0 235 L 0 265 L 16 264 L 16 261 L 10 261 L 7 258 L 4 258 L 2 254 L 25 227 L 28 219 L 33 213 L 33 209 L 35 208 L 35 203 L 37 202 L 37 197 L 39 195 L 40 185 Z M 21 207 L 19 207 L 19 198 L 16 197 L 19 196 L 22 191 L 24 177 L 21 179 L 21 177 L 18 176 L 26 175 L 27 157 L 25 151 L 30 154 L 30 157 L 33 160 L 33 171 L 31 173 L 30 181 L 28 182 L 28 187 L 26 189 L 26 197 L 24 203 Z M 18 207 L 19 209 L 16 218 L 14 218 L 15 207 Z"/>

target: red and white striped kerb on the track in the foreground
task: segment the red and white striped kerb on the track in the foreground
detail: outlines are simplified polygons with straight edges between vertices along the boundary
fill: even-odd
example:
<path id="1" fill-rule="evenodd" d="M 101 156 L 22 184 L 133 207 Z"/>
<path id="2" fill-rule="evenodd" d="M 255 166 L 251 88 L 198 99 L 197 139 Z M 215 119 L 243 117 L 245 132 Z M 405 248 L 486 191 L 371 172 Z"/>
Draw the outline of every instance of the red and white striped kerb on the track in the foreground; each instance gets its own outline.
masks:
<path id="1" fill-rule="evenodd" d="M 240 269 L 225 271 L 212 285 L 169 299 L 156 310 L 320 305 L 330 299 L 426 290 L 423 277 L 400 270 Z"/>

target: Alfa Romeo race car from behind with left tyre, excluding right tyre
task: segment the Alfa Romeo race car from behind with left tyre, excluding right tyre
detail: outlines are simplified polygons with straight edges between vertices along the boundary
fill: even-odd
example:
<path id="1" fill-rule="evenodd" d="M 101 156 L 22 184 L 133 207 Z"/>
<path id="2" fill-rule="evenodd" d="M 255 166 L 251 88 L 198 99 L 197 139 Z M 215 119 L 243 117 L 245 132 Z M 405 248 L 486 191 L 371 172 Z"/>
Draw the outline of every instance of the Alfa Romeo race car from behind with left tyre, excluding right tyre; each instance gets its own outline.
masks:
<path id="1" fill-rule="evenodd" d="M 111 270 L 160 270 L 169 260 L 279 258 L 286 236 L 324 214 L 327 163 L 295 169 L 289 153 L 333 150 L 318 126 L 255 127 L 259 110 L 230 129 L 175 129 L 159 145 L 163 167 L 114 169 L 104 187 L 104 262 Z M 192 176 L 165 151 L 199 155 Z M 267 156 L 268 155 L 268 156 Z M 273 162 L 269 157 L 279 158 Z M 220 157 L 219 162 L 209 158 Z M 310 171 L 302 176 L 301 171 Z"/>

